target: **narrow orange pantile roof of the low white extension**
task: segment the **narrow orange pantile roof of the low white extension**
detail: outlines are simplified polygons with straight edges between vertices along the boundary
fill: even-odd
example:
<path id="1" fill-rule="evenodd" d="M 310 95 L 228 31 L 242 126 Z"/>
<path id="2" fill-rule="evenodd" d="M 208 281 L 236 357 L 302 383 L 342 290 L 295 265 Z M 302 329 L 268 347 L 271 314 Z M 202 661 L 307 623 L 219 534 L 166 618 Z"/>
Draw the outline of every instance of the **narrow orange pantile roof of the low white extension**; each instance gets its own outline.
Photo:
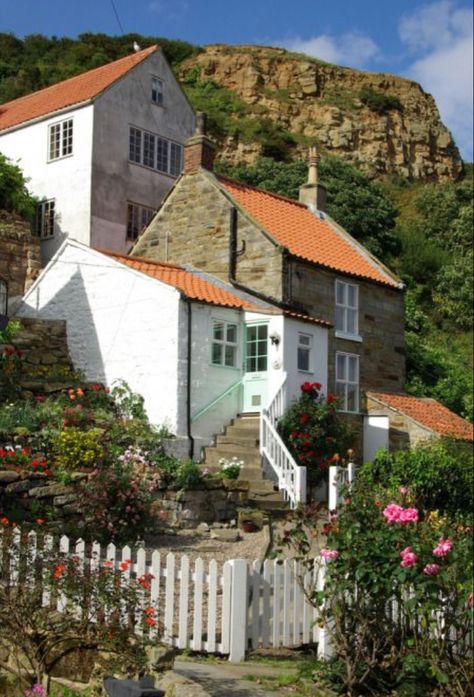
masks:
<path id="1" fill-rule="evenodd" d="M 157 261 L 150 261 L 149 259 L 142 259 L 141 257 L 118 254 L 117 252 L 111 252 L 105 249 L 98 249 L 97 251 L 106 254 L 135 271 L 140 271 L 147 276 L 151 276 L 158 281 L 162 281 L 169 286 L 177 288 L 191 300 L 200 300 L 204 303 L 221 305 L 223 307 L 258 310 L 258 308 L 251 303 L 242 300 L 242 298 L 239 298 L 237 295 L 234 295 L 224 288 L 213 285 L 199 275 L 183 269 L 181 266 L 163 264 Z"/>

